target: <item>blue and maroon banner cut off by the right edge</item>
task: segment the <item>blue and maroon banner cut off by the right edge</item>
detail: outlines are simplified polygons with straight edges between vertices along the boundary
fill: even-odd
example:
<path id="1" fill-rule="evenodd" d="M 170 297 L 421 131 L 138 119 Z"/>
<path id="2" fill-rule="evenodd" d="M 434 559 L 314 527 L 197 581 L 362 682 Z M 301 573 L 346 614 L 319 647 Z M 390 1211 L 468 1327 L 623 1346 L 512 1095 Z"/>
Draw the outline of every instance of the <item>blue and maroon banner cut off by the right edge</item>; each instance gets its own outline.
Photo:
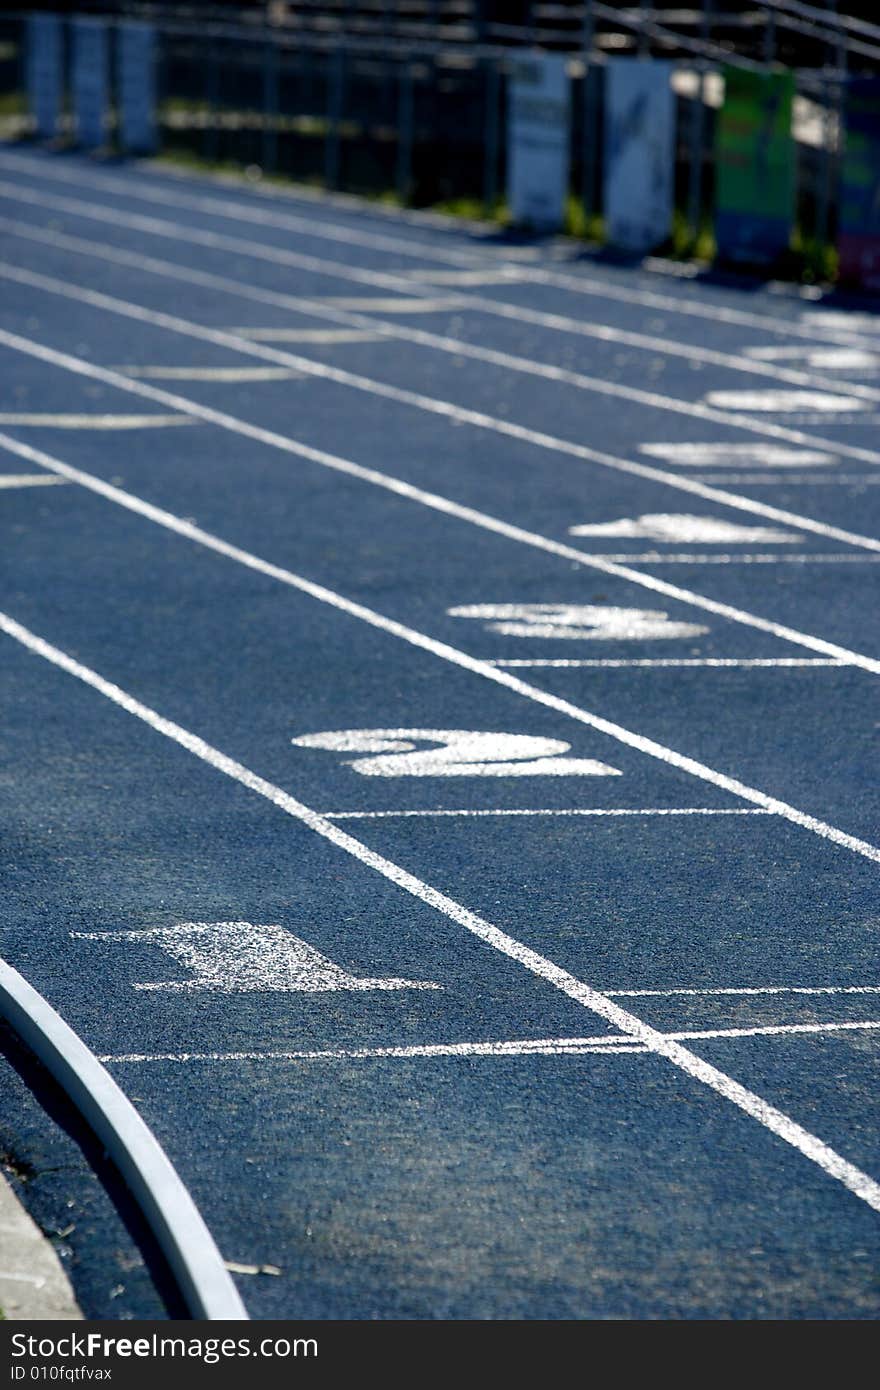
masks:
<path id="1" fill-rule="evenodd" d="M 880 78 L 849 83 L 845 122 L 838 279 L 880 289 Z"/>

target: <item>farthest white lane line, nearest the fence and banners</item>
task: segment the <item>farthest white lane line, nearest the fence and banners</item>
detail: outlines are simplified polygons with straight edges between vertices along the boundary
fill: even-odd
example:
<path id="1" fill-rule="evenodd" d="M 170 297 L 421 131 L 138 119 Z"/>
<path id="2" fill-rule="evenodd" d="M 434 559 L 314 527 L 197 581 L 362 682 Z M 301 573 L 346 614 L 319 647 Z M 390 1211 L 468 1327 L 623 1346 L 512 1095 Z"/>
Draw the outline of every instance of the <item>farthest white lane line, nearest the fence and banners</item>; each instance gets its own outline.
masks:
<path id="1" fill-rule="evenodd" d="M 92 174 L 89 178 L 70 174 L 60 168 L 43 168 L 35 167 L 31 161 L 25 164 L 24 160 L 10 156 L 0 157 L 0 167 L 8 168 L 11 171 L 18 171 L 26 168 L 26 172 L 32 178 L 47 178 L 53 182 L 60 183 L 74 183 L 76 189 L 83 188 L 101 189 L 113 193 L 118 199 L 120 192 L 132 197 L 133 200 L 146 203 L 158 203 L 168 207 L 185 207 L 197 211 L 206 211 L 215 217 L 225 217 L 232 221 L 243 222 L 266 222 L 272 227 L 282 227 L 289 231 L 304 232 L 306 235 L 314 236 L 318 234 L 327 240 L 343 242 L 353 246 L 371 246 L 377 250 L 386 250 L 395 254 L 413 256 L 427 261 L 445 261 L 452 265 L 474 267 L 474 263 L 482 260 L 485 265 L 496 265 L 496 253 L 484 252 L 482 247 L 468 249 L 467 252 L 459 252 L 445 246 L 437 246 L 431 243 L 413 242 L 409 238 L 400 236 L 385 236 L 374 232 L 356 231 L 348 225 L 341 225 L 332 222 L 327 218 L 327 207 L 323 207 L 324 215 L 316 218 L 313 208 L 309 208 L 307 217 L 298 217 L 291 213 L 275 213 L 268 211 L 263 206 L 247 207 L 241 202 L 232 202 L 231 199 L 215 199 L 215 197 L 199 197 L 188 193 L 178 193 L 177 190 L 160 189 L 156 185 L 140 185 L 139 189 L 132 189 L 131 186 L 120 189 L 120 185 L 113 178 L 101 178 L 100 175 Z M 10 185 L 11 189 L 18 188 L 18 185 Z M 35 190 L 28 190 L 31 195 Z M 259 196 L 259 195 L 257 195 Z M 36 199 L 35 199 L 36 200 Z M 44 197 L 46 200 L 46 197 Z M 185 224 L 178 224 L 181 238 L 185 239 L 189 228 Z M 603 279 L 596 275 L 591 275 L 578 267 L 577 274 L 566 271 L 545 270 L 537 265 L 523 267 L 519 264 L 510 264 L 509 261 L 499 267 L 499 272 L 503 271 L 505 279 L 516 285 L 517 281 L 525 284 L 538 285 L 555 285 L 560 289 L 574 291 L 576 293 L 596 297 L 596 299 L 610 299 L 619 303 L 635 304 L 639 309 L 659 309 L 680 317 L 696 317 L 708 318 L 712 322 L 735 324 L 745 328 L 756 328 L 760 332 L 776 334 L 780 336 L 802 338 L 810 343 L 819 338 L 824 338 L 834 343 L 862 343 L 866 348 L 876 345 L 870 334 L 863 338 L 858 338 L 852 332 L 852 314 L 833 314 L 830 311 L 817 310 L 809 316 L 804 322 L 797 320 L 784 318 L 779 314 L 759 314 L 741 309 L 731 309 L 723 303 L 713 303 L 703 299 L 688 299 L 685 295 L 665 295 L 649 289 L 634 289 L 630 285 L 614 284 L 610 279 Z M 407 271 L 403 277 L 405 281 L 410 282 L 413 286 L 418 272 Z M 424 271 L 420 277 L 428 284 L 435 282 L 434 272 Z M 509 306 L 512 310 L 519 311 L 519 306 Z M 861 316 L 858 324 L 859 329 L 866 327 L 866 316 Z M 873 324 L 870 325 L 873 329 Z"/>

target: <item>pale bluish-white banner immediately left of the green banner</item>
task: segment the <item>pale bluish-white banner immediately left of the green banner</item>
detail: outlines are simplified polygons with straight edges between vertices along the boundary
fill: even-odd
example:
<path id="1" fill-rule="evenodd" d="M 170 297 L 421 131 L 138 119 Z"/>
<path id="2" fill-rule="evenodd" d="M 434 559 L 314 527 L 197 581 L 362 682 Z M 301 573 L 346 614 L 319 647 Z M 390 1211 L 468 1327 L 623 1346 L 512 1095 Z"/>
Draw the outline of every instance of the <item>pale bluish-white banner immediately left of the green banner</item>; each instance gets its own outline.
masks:
<path id="1" fill-rule="evenodd" d="M 676 95 L 671 63 L 609 58 L 605 68 L 605 224 L 624 250 L 649 252 L 673 225 Z"/>

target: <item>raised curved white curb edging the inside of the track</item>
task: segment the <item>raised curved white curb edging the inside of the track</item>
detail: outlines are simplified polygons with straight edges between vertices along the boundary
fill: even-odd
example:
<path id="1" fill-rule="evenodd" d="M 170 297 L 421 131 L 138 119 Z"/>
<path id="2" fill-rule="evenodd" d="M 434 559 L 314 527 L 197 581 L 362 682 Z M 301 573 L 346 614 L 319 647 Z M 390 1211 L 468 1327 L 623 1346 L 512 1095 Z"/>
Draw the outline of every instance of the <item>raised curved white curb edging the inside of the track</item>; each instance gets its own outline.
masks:
<path id="1" fill-rule="evenodd" d="M 0 1015 L 101 1140 L 156 1236 L 192 1316 L 247 1319 L 211 1233 L 156 1137 L 85 1042 L 1 959 Z"/>

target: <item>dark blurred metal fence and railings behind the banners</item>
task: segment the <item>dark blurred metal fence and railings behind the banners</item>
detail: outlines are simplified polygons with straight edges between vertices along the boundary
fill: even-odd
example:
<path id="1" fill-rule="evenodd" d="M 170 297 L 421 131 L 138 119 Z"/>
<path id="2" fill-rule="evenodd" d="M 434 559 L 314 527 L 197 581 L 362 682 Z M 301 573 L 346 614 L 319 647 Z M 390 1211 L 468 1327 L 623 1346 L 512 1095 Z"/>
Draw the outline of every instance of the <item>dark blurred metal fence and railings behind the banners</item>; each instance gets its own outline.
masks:
<path id="1" fill-rule="evenodd" d="M 576 231 L 601 211 L 609 56 L 674 61 L 676 203 L 691 236 L 708 225 L 713 206 L 722 65 L 773 71 L 781 63 L 794 71 L 799 235 L 816 243 L 830 242 L 836 229 L 847 82 L 880 72 L 880 26 L 799 0 L 748 8 L 703 0 L 690 10 L 270 0 L 249 10 L 189 11 L 107 0 L 78 10 L 156 24 L 164 153 L 407 206 L 495 213 L 505 189 L 506 83 L 516 53 L 523 46 L 566 53 Z M 25 17 L 0 15 L 0 114 L 7 122 L 22 88 Z M 21 114 L 15 129 L 26 132 Z"/>

